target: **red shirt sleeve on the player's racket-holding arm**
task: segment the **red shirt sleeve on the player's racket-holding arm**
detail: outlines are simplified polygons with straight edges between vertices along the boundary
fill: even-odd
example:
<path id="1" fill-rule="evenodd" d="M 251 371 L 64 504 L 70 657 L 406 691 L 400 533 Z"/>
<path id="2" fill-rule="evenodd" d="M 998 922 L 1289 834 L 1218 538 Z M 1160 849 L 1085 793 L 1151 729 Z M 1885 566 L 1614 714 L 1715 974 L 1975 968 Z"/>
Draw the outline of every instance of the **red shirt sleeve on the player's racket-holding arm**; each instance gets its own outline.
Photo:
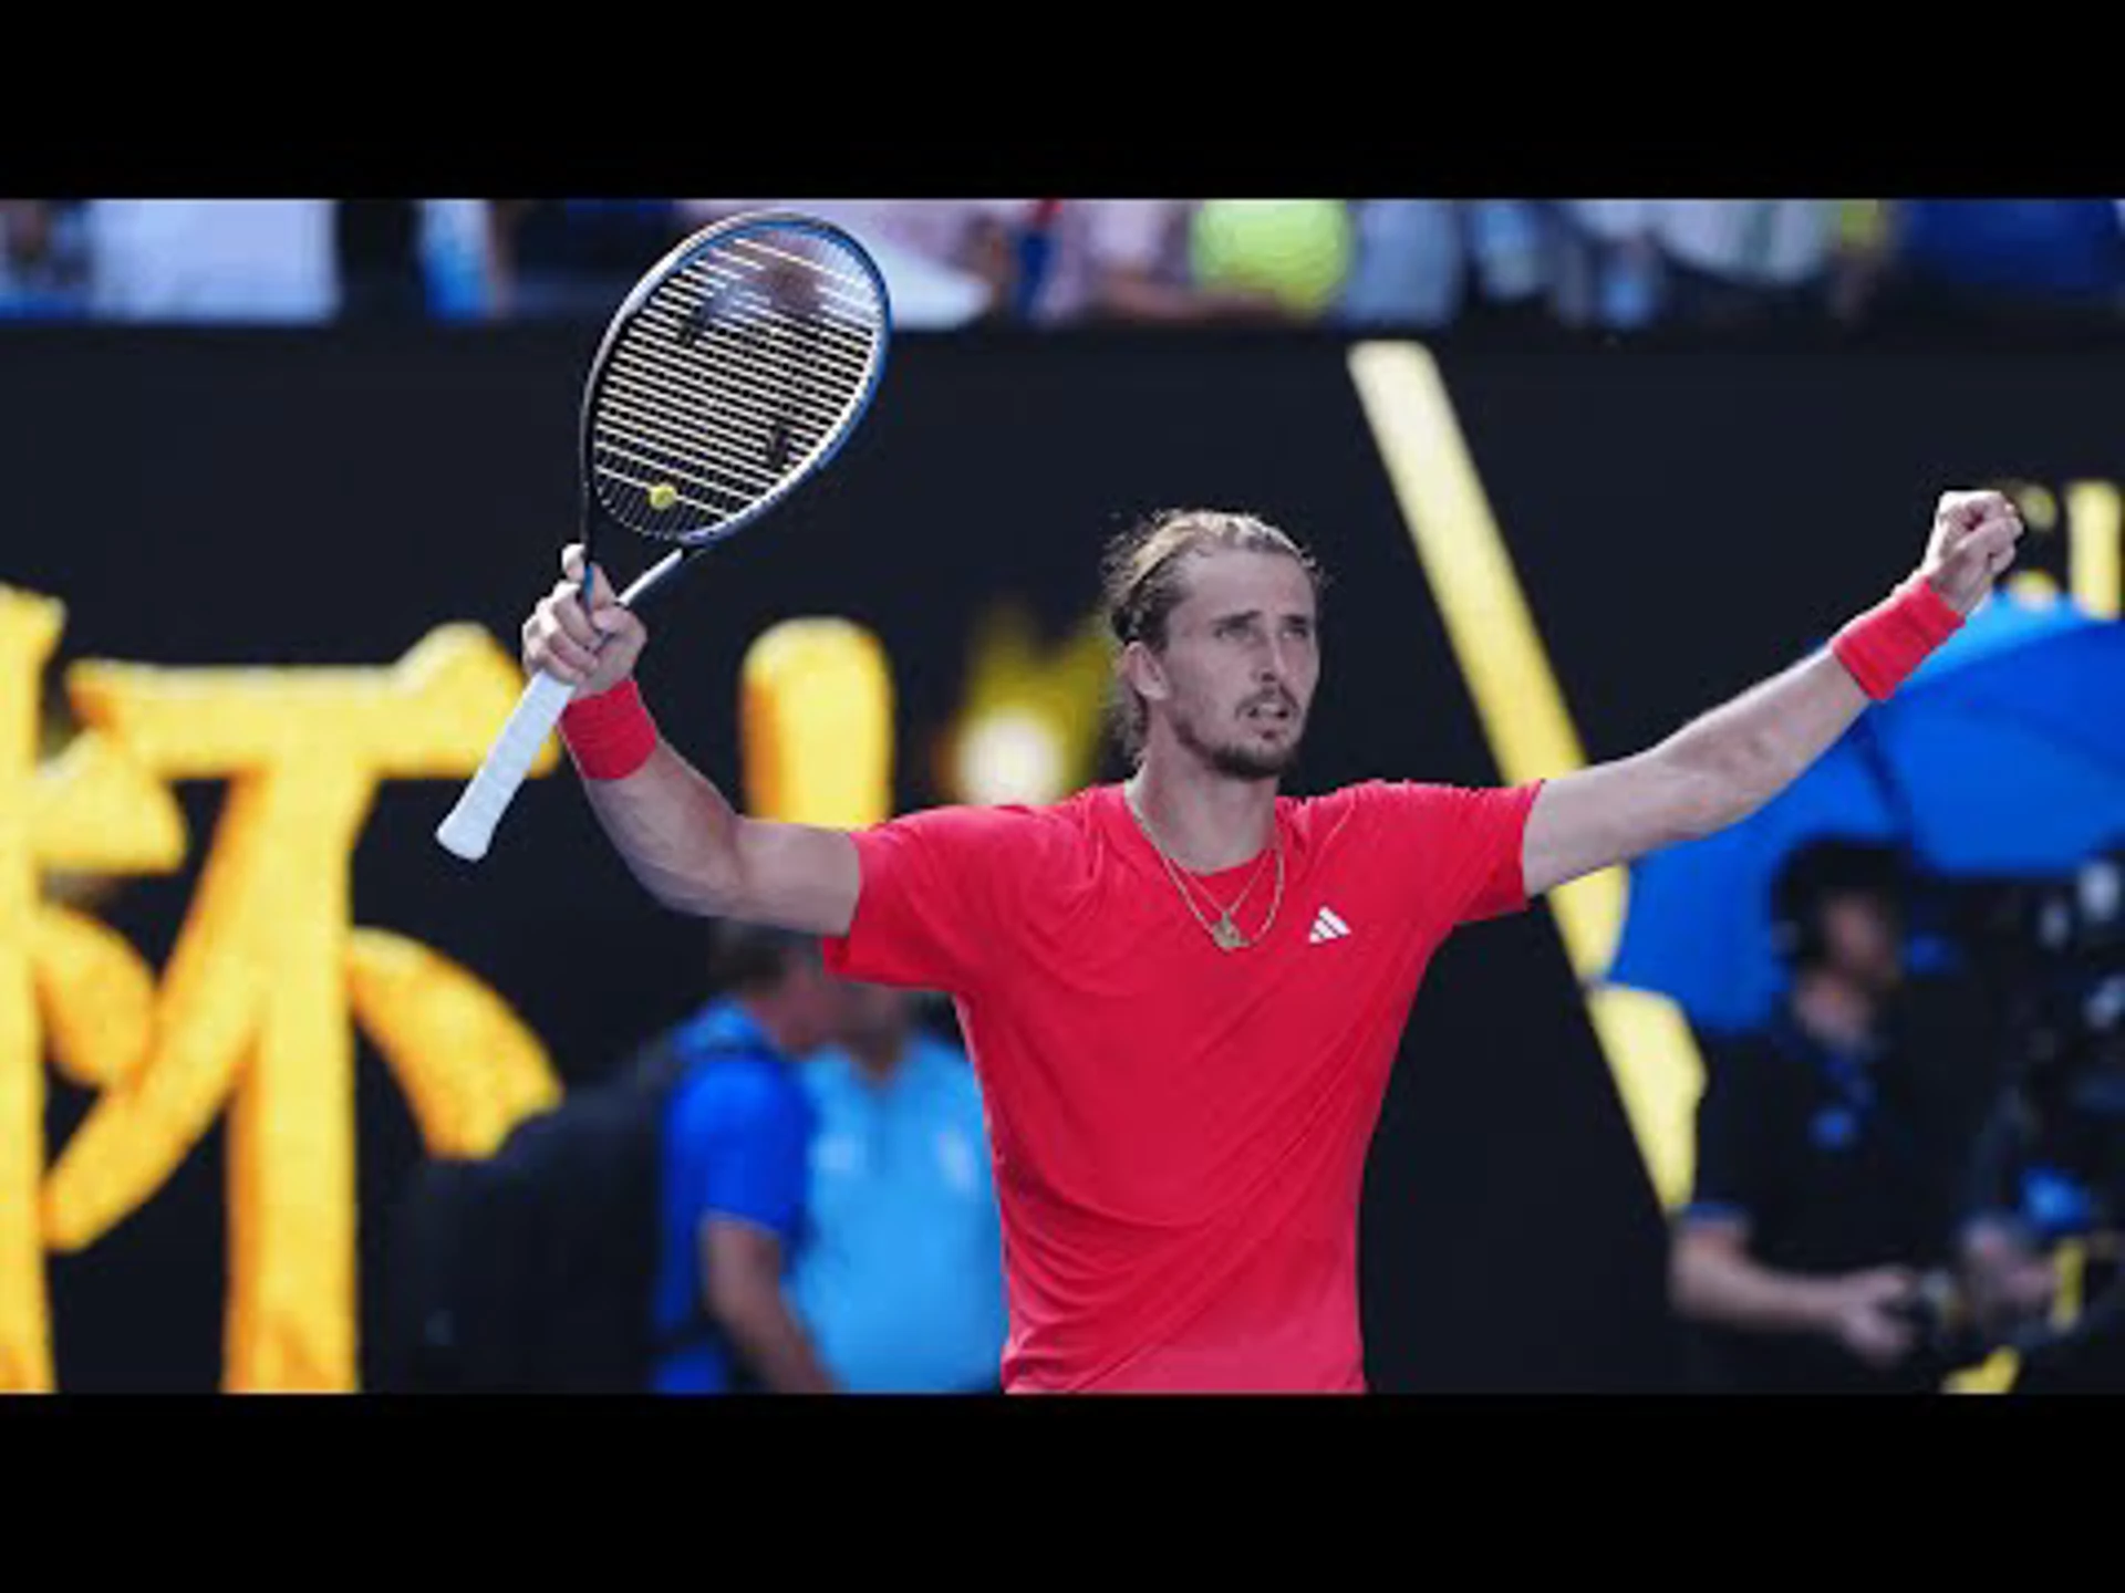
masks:
<path id="1" fill-rule="evenodd" d="M 1026 807 L 933 807 L 852 833 L 848 935 L 820 941 L 844 979 L 965 994 L 1007 945 L 1007 907 L 1039 845 Z"/>

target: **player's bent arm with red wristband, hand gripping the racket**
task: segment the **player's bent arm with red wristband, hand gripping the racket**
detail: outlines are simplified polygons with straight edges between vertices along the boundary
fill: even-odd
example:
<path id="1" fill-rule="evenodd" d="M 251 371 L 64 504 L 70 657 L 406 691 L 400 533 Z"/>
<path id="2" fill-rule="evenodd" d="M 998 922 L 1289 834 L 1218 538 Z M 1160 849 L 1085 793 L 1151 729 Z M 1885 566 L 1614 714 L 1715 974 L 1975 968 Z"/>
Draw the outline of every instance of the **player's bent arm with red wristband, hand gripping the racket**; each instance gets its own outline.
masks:
<path id="1" fill-rule="evenodd" d="M 856 845 L 842 830 L 744 818 L 659 735 L 633 684 L 648 641 L 597 571 L 584 614 L 582 548 L 523 629 L 527 671 L 578 688 L 561 739 L 591 811 L 635 879 L 665 907 L 810 935 L 844 935 L 856 915 Z"/>

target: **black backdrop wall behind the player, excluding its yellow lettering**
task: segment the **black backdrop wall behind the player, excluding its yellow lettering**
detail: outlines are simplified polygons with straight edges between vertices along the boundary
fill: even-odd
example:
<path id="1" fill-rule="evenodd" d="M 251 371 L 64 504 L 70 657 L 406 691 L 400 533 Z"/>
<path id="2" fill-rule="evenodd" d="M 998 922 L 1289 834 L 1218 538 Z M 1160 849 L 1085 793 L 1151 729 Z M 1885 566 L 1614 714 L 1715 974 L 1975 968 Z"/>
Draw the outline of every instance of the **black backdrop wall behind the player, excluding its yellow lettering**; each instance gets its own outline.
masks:
<path id="1" fill-rule="evenodd" d="M 382 665 L 446 620 L 506 646 L 574 529 L 593 331 L 140 333 L 0 340 L 0 582 L 68 603 L 72 658 Z M 2125 463 L 2125 374 L 2072 355 L 1447 353 L 1449 389 L 1592 756 L 1636 750 L 1787 663 L 1919 556 L 1934 495 Z M 1311 338 L 903 338 L 871 421 L 774 523 L 710 554 L 654 618 L 646 690 L 735 788 L 744 648 L 790 614 L 871 627 L 912 750 L 958 705 L 967 622 L 1020 597 L 1056 635 L 1101 539 L 1167 503 L 1258 510 L 1334 573 L 1328 675 L 1298 790 L 1498 777 L 1366 433 L 1343 350 Z M 2055 552 L 2038 548 L 2038 561 Z M 693 924 L 652 907 L 567 777 L 533 786 L 489 862 L 429 833 L 455 784 L 387 786 L 355 915 L 470 964 L 563 1075 L 610 1064 L 699 994 Z M 191 864 L 104 909 L 155 966 Z M 51 1079 L 51 1151 L 87 1096 Z M 361 1058 L 366 1213 L 416 1138 Z M 144 1211 L 53 1257 L 68 1389 L 219 1376 L 219 1130 Z M 363 1230 L 374 1315 L 382 1226 Z M 1664 1243 L 1545 911 L 1434 960 L 1364 1204 L 1381 1389 L 1666 1387 Z"/>

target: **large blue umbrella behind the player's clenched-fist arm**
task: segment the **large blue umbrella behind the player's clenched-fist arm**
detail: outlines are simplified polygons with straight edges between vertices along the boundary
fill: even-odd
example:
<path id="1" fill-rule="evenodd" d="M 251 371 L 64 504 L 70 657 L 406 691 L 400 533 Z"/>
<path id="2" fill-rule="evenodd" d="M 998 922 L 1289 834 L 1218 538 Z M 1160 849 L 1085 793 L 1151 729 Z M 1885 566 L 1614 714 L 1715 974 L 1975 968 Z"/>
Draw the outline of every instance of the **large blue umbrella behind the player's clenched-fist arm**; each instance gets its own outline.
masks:
<path id="1" fill-rule="evenodd" d="M 1757 813 L 1632 864 L 1609 981 L 1702 1028 L 1764 1022 L 1770 881 L 1804 841 L 1902 845 L 1938 875 L 2048 877 L 2125 835 L 2125 624 L 1993 597 Z"/>

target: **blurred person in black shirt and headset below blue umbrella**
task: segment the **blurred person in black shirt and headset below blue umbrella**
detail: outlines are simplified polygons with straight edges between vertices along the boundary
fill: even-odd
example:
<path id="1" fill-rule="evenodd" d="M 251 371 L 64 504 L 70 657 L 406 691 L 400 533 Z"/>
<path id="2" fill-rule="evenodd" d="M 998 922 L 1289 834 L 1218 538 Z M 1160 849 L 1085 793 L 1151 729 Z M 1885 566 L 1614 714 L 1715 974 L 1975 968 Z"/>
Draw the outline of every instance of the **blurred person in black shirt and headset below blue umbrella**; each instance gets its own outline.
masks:
<path id="1" fill-rule="evenodd" d="M 1670 1298 L 1721 1391 L 1919 1393 L 1974 1359 L 1934 1332 L 1985 1104 L 1983 1009 L 1906 979 L 1889 847 L 1815 841 L 1774 884 L 1791 971 L 1757 1032 L 1706 1043 Z"/>

